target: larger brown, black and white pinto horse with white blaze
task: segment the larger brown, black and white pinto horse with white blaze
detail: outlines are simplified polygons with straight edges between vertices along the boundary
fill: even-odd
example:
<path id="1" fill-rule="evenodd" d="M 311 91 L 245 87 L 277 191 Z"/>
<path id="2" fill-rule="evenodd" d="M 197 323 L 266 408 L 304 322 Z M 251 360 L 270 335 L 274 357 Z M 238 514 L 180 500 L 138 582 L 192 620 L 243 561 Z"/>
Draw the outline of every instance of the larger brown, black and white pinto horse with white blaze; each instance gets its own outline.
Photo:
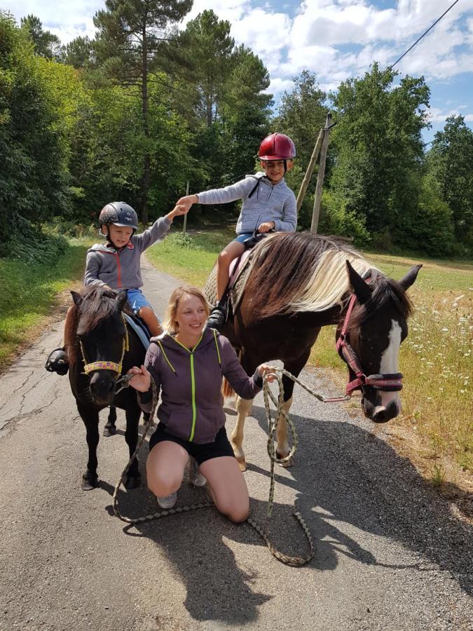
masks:
<path id="1" fill-rule="evenodd" d="M 336 348 L 349 370 L 347 394 L 361 390 L 365 416 L 383 423 L 401 409 L 399 347 L 411 313 L 406 290 L 420 267 L 397 282 L 346 243 L 308 232 L 276 233 L 256 245 L 240 304 L 222 332 L 240 349 L 248 374 L 261 362 L 282 360 L 299 376 L 321 327 L 338 325 Z M 282 381 L 289 412 L 294 381 L 286 376 Z M 252 401 L 237 399 L 231 442 L 242 470 L 243 428 L 251 406 Z M 287 454 L 287 423 L 279 422 L 277 456 Z"/>

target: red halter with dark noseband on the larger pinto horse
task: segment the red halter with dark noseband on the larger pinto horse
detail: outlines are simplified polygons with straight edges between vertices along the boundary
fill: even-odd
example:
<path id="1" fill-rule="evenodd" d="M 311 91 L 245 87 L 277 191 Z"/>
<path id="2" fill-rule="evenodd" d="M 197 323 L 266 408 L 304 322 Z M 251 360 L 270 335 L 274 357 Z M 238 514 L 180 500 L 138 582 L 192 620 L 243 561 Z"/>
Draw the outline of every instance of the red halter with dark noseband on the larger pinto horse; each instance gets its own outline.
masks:
<path id="1" fill-rule="evenodd" d="M 363 372 L 362 365 L 357 354 L 350 344 L 348 344 L 346 332 L 348 329 L 348 323 L 350 322 L 350 315 L 352 315 L 353 307 L 355 306 L 356 301 L 356 294 L 352 294 L 345 314 L 345 320 L 343 322 L 340 337 L 336 341 L 336 350 L 338 355 L 345 360 L 348 367 L 355 373 L 356 376 L 356 379 L 348 381 L 345 394 L 348 397 L 351 397 L 353 391 L 362 390 L 364 386 L 371 386 L 376 390 L 383 390 L 385 392 L 402 390 L 402 372 L 395 372 L 393 374 L 370 374 L 369 376 L 366 376 Z M 350 379 L 350 376 L 348 378 Z"/>

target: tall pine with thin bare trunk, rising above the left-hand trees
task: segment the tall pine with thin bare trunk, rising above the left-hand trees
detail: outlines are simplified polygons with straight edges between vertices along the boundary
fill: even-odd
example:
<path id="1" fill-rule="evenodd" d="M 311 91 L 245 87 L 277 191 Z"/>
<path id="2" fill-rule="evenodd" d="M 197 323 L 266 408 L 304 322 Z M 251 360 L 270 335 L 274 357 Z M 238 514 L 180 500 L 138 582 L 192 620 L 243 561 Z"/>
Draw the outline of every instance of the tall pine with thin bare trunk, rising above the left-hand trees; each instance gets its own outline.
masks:
<path id="1" fill-rule="evenodd" d="M 192 0 L 106 0 L 106 9 L 97 11 L 94 24 L 97 38 L 97 60 L 122 86 L 138 86 L 142 105 L 142 130 L 150 140 L 149 85 L 162 82 L 150 73 L 160 67 L 164 54 L 165 29 L 179 22 L 191 10 Z M 148 194 L 151 179 L 151 157 L 145 152 L 141 190 L 141 218 L 148 220 Z"/>

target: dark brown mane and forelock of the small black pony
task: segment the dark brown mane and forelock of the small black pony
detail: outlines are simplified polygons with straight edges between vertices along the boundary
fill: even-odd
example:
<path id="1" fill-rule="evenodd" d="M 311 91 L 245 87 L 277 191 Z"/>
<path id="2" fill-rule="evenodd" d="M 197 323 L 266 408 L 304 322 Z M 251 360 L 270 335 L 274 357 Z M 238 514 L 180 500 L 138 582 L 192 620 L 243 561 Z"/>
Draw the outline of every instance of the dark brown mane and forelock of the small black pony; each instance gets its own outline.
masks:
<path id="1" fill-rule="evenodd" d="M 78 292 L 82 298 L 80 308 L 74 303 L 64 327 L 64 345 L 67 348 L 69 364 L 73 365 L 77 359 L 79 348 L 78 335 L 85 335 L 97 327 L 97 325 L 116 313 L 116 292 L 102 285 L 86 285 Z M 128 303 L 123 309 L 131 315 Z"/>

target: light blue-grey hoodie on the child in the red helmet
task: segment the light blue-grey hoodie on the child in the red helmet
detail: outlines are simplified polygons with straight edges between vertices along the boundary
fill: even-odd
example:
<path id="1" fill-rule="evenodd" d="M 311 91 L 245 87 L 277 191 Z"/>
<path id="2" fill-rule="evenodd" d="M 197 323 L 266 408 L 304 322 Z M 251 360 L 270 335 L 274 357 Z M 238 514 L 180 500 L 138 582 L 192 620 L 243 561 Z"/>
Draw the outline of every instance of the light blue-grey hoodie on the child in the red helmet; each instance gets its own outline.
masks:
<path id="1" fill-rule="evenodd" d="M 255 184 L 259 186 L 248 198 Z M 242 199 L 237 234 L 254 232 L 263 222 L 274 222 L 278 232 L 294 232 L 297 226 L 296 196 L 284 177 L 272 184 L 263 172 L 247 175 L 224 189 L 212 189 L 198 194 L 200 204 L 225 204 Z"/>

